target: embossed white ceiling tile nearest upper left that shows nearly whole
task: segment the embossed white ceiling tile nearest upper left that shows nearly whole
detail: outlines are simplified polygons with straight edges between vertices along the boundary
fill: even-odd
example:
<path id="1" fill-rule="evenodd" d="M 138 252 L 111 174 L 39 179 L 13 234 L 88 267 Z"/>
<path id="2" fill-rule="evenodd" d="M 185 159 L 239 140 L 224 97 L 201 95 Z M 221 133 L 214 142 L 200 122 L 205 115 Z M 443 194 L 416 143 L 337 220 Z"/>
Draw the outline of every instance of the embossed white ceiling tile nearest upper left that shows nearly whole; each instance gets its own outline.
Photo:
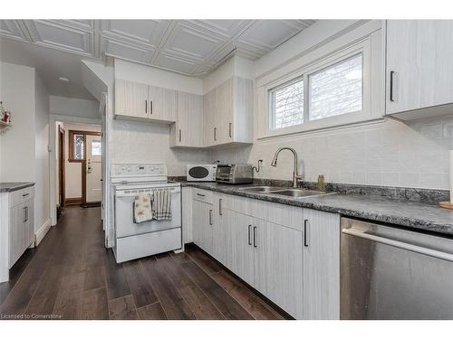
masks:
<path id="1" fill-rule="evenodd" d="M 45 20 L 26 20 L 25 24 L 36 44 L 92 55 L 90 32 Z"/>

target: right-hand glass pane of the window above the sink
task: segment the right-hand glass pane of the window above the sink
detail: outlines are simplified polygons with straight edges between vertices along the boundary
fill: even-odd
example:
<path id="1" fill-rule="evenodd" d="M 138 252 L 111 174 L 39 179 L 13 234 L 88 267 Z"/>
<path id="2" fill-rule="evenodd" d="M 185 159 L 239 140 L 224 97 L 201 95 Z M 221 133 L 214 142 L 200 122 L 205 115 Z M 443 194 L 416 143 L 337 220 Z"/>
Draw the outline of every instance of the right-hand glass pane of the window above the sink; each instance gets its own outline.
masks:
<path id="1" fill-rule="evenodd" d="M 309 119 L 329 118 L 362 109 L 362 56 L 309 75 Z"/>

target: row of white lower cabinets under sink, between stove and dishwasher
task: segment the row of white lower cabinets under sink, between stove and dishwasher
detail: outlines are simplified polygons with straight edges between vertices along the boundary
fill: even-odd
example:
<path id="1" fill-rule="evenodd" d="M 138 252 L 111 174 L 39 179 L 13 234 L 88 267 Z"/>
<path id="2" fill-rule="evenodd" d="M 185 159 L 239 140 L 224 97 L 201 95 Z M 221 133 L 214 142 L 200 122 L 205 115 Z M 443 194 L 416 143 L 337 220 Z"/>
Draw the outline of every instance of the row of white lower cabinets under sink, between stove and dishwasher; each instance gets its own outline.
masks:
<path id="1" fill-rule="evenodd" d="M 296 319 L 340 317 L 340 216 L 196 189 L 194 242 Z"/>

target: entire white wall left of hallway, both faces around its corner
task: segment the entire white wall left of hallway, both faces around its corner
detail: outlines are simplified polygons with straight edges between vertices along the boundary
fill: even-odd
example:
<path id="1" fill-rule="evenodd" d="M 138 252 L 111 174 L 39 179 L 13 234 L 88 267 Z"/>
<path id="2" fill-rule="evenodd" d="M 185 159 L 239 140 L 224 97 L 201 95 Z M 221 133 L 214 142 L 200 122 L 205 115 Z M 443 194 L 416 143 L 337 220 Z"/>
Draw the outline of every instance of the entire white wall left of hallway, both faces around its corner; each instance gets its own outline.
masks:
<path id="1" fill-rule="evenodd" d="M 49 95 L 33 68 L 2 62 L 2 100 L 13 127 L 2 136 L 0 182 L 34 182 L 34 231 L 49 226 Z M 42 227 L 46 225 L 46 230 Z"/>

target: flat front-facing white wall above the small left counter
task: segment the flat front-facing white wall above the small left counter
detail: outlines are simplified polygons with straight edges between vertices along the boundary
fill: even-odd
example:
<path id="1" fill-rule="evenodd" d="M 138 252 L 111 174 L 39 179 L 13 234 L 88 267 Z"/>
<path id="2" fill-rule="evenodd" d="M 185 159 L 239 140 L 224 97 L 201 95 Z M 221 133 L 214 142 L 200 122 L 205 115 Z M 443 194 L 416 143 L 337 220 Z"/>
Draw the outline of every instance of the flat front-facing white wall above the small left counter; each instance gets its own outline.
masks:
<path id="1" fill-rule="evenodd" d="M 13 127 L 2 136 L 0 182 L 34 181 L 34 69 L 2 62 L 2 101 Z"/>

